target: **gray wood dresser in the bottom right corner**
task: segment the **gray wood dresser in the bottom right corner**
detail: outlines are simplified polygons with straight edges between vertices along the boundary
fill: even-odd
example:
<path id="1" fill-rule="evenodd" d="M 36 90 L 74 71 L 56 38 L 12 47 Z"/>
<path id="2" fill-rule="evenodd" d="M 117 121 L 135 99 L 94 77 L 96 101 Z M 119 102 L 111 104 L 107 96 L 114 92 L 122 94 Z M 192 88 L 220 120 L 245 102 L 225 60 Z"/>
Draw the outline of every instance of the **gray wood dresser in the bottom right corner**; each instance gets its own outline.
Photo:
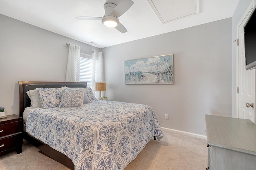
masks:
<path id="1" fill-rule="evenodd" d="M 256 170 L 256 125 L 205 115 L 209 170 Z"/>

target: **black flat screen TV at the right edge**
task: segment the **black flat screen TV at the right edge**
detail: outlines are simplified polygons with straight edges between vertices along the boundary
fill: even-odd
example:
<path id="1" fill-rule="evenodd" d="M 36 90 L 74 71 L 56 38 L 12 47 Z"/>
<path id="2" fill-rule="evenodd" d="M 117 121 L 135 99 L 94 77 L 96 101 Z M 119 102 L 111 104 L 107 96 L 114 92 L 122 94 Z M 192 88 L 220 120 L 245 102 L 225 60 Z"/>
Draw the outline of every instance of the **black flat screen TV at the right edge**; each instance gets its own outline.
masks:
<path id="1" fill-rule="evenodd" d="M 244 26 L 245 69 L 256 69 L 256 12 Z"/>

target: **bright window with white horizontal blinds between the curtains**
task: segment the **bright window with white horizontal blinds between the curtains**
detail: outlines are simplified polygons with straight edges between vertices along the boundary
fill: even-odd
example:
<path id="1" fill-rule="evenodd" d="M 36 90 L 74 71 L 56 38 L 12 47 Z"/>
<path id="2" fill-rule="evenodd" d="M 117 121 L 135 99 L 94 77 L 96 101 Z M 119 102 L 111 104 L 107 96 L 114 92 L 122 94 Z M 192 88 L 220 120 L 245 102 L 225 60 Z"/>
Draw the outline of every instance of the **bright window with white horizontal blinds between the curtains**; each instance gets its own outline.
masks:
<path id="1" fill-rule="evenodd" d="M 80 53 L 80 82 L 87 82 L 92 87 L 92 56 Z"/>

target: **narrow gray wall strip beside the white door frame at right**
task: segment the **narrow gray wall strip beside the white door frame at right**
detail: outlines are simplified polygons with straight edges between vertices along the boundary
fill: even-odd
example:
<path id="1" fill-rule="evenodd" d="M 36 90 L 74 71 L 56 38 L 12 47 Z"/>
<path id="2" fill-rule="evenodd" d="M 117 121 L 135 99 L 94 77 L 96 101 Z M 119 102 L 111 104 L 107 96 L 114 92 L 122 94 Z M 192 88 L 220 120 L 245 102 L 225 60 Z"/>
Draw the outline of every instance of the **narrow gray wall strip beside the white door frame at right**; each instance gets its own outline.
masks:
<path id="1" fill-rule="evenodd" d="M 232 16 L 232 41 L 237 39 L 237 25 L 252 0 L 240 0 Z M 256 4 L 256 0 L 255 0 Z M 232 43 L 232 117 L 236 117 L 236 42 Z M 256 79 L 255 79 L 256 80 Z"/>

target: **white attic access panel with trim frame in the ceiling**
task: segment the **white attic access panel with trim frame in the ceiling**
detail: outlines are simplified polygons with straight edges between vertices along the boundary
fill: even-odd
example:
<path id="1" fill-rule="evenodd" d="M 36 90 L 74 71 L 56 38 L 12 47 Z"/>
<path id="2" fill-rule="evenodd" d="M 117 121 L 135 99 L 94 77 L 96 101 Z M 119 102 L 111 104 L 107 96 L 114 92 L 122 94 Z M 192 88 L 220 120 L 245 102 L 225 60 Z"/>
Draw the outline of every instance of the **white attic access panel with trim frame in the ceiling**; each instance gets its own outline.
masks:
<path id="1" fill-rule="evenodd" d="M 199 0 L 148 0 L 162 24 L 199 14 Z"/>

